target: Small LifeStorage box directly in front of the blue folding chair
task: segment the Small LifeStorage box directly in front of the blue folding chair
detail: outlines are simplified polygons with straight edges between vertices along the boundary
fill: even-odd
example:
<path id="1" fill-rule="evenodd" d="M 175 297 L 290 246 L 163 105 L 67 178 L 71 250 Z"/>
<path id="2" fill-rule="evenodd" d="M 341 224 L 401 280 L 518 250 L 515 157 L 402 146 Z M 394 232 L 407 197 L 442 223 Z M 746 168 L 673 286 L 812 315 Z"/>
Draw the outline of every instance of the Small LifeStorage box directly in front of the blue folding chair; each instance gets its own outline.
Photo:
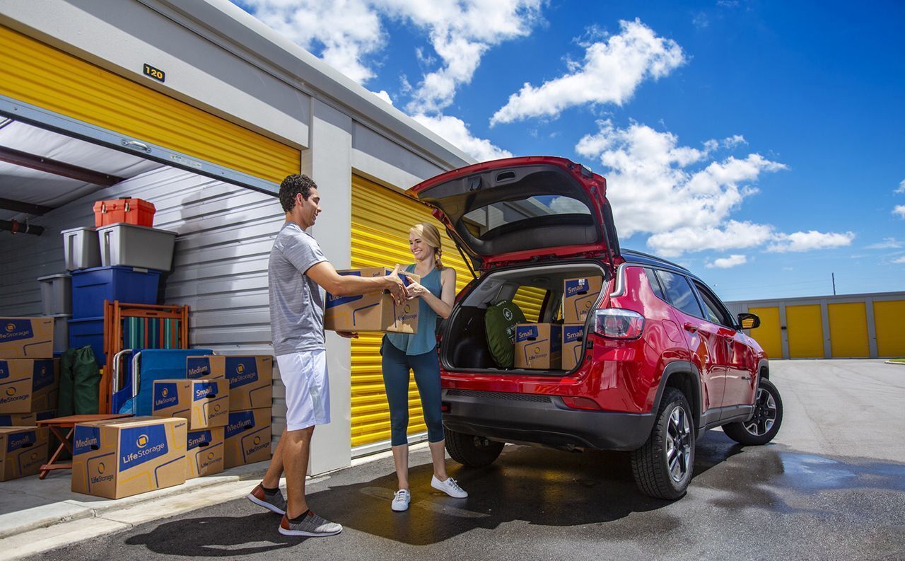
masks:
<path id="1" fill-rule="evenodd" d="M 224 426 L 229 418 L 229 384 L 218 380 L 155 380 L 151 414 L 186 419 L 190 430 Z"/>

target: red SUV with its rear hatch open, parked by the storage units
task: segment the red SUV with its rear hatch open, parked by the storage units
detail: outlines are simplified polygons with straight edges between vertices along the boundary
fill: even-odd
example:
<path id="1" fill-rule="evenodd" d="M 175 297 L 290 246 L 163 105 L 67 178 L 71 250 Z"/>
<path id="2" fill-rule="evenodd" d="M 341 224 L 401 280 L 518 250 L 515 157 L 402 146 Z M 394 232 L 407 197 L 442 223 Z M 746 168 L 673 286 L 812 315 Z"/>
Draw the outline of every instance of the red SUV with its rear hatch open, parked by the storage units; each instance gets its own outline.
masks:
<path id="1" fill-rule="evenodd" d="M 505 442 L 631 451 L 646 494 L 678 499 L 695 439 L 722 426 L 770 442 L 782 401 L 767 355 L 706 283 L 683 267 L 621 250 L 606 181 L 560 157 L 513 157 L 456 169 L 408 191 L 433 207 L 479 275 L 440 330 L 443 424 L 452 459 L 489 465 Z M 484 313 L 519 289 L 543 293 L 536 321 L 561 318 L 564 281 L 602 279 L 576 366 L 500 367 Z"/>

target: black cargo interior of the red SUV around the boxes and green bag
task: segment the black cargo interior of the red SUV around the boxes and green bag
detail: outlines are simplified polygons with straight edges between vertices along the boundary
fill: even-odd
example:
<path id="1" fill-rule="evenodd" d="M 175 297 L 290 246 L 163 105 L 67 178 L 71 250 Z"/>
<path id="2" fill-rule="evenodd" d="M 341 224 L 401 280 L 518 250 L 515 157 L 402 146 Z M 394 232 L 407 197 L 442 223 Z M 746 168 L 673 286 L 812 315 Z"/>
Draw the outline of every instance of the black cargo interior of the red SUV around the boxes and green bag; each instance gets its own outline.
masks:
<path id="1" fill-rule="evenodd" d="M 482 276 L 476 286 L 453 309 L 443 325 L 441 364 L 448 370 L 472 373 L 510 373 L 562 376 L 575 368 L 548 370 L 501 367 L 491 356 L 487 343 L 485 312 L 489 306 L 503 300 L 518 303 L 517 295 L 529 290 L 535 299 L 542 299 L 539 315 L 526 313 L 531 323 L 564 323 L 562 314 L 563 285 L 568 279 L 597 277 L 608 279 L 608 272 L 595 261 L 558 261 L 548 265 L 513 266 L 491 271 Z M 603 282 L 604 288 L 606 282 Z M 542 297 L 540 295 L 543 295 Z M 604 290 L 588 295 L 594 307 L 604 298 Z M 522 310 L 526 311 L 526 310 Z M 584 341 L 578 357 L 584 356 Z M 580 366 L 579 365 L 576 365 Z"/>

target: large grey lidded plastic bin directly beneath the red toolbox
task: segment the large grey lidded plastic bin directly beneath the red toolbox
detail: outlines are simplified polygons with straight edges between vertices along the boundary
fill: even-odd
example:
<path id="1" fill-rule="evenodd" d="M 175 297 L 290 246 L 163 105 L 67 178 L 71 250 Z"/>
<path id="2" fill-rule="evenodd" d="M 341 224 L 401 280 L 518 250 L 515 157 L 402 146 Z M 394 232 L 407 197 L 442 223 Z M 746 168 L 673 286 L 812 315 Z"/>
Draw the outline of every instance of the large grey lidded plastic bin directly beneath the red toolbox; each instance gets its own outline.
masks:
<path id="1" fill-rule="evenodd" d="M 169 271 L 176 233 L 119 223 L 98 229 L 100 264 Z"/>

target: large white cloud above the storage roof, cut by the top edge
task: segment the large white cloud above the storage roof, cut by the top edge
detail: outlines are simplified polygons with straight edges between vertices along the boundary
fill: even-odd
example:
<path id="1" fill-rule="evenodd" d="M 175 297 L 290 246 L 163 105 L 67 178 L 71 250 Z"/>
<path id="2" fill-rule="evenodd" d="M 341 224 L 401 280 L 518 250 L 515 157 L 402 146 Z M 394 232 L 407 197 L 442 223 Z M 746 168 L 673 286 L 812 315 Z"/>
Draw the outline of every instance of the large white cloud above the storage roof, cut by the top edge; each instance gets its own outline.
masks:
<path id="1" fill-rule="evenodd" d="M 426 34 L 441 67 L 410 92 L 412 113 L 438 112 L 472 80 L 492 46 L 528 35 L 543 0 L 233 0 L 291 41 L 358 83 L 376 75 L 369 59 L 386 46 L 383 21 L 414 25 Z M 433 65 L 418 48 L 419 62 Z"/>

